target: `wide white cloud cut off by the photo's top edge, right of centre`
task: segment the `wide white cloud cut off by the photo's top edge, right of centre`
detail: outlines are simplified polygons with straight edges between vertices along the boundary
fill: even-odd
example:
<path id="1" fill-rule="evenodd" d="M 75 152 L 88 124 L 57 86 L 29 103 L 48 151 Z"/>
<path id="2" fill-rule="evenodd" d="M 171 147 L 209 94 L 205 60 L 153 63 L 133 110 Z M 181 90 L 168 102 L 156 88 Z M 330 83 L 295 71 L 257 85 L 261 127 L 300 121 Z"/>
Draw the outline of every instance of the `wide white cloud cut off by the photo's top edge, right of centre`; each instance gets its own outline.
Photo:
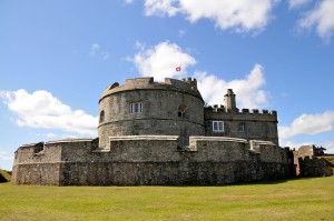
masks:
<path id="1" fill-rule="evenodd" d="M 252 31 L 263 29 L 279 0 L 146 0 L 147 16 L 186 14 L 190 22 L 209 19 L 220 29 Z"/>

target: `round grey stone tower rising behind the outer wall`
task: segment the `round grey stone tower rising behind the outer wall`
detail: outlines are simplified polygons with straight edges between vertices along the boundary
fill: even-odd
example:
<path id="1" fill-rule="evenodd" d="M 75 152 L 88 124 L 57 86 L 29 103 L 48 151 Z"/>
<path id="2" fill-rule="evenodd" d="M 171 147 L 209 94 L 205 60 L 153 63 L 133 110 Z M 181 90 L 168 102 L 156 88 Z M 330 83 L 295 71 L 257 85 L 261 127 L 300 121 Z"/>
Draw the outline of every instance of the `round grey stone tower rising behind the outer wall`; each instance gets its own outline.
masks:
<path id="1" fill-rule="evenodd" d="M 154 78 L 114 83 L 99 100 L 99 145 L 108 148 L 109 137 L 179 135 L 187 145 L 189 135 L 204 135 L 204 101 L 196 79 Z"/>

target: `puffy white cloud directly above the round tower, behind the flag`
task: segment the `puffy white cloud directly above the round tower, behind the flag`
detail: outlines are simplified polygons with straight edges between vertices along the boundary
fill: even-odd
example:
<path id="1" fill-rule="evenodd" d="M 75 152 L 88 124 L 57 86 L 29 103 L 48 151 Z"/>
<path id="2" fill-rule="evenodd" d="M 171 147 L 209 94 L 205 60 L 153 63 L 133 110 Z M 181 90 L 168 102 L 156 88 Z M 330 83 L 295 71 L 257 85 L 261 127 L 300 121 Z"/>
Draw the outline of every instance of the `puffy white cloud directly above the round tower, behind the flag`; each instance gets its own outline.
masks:
<path id="1" fill-rule="evenodd" d="M 155 77 L 155 80 L 163 81 L 164 78 L 180 78 L 186 73 L 189 66 L 194 66 L 196 60 L 181 48 L 168 41 L 146 49 L 141 43 L 136 43 L 139 52 L 129 59 L 144 77 Z M 176 71 L 176 67 L 181 66 L 181 71 Z"/>

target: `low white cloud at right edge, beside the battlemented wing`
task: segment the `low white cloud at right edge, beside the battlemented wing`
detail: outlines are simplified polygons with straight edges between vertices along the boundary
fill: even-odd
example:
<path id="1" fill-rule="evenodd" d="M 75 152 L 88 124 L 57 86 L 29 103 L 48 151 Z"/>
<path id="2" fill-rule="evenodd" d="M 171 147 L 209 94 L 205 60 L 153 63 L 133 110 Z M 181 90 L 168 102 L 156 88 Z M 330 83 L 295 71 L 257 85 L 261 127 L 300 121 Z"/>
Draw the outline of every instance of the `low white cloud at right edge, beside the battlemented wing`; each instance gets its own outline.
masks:
<path id="1" fill-rule="evenodd" d="M 318 134 L 333 130 L 334 112 L 326 111 L 316 114 L 302 114 L 289 125 L 278 127 L 282 139 L 288 139 L 297 134 Z"/>

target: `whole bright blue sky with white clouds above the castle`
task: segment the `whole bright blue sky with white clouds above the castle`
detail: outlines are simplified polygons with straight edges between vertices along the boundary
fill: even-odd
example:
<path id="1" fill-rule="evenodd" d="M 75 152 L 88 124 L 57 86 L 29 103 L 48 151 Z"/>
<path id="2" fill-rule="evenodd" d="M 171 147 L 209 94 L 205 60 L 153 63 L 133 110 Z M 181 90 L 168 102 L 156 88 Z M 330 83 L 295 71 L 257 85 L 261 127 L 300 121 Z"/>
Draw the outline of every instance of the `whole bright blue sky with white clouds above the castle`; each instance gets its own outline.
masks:
<path id="1" fill-rule="evenodd" d="M 281 145 L 334 152 L 334 0 L 0 0 L 0 168 L 97 135 L 102 90 L 196 77 L 206 102 L 277 110 Z M 175 67 L 181 66 L 181 72 Z"/>

